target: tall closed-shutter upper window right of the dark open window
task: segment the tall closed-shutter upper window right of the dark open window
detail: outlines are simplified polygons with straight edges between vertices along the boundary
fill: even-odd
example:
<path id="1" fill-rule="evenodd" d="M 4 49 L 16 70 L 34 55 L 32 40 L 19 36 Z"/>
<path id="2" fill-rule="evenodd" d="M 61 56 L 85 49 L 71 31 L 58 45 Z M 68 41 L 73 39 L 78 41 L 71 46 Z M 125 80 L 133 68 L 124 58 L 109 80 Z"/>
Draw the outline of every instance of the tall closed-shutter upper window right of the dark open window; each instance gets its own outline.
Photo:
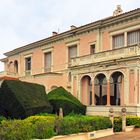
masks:
<path id="1" fill-rule="evenodd" d="M 52 53 L 47 52 L 44 54 L 45 72 L 51 71 L 51 65 L 52 65 Z"/>

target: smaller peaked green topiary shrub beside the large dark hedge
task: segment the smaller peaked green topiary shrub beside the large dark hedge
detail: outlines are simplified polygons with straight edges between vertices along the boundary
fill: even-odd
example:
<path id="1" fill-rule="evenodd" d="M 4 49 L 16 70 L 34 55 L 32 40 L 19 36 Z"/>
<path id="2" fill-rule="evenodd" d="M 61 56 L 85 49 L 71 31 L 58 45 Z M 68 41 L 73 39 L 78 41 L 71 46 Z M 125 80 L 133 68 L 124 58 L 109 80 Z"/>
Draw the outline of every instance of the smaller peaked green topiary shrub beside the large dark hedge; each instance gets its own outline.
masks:
<path id="1" fill-rule="evenodd" d="M 47 97 L 53 106 L 53 113 L 58 113 L 59 108 L 63 109 L 64 115 L 72 112 L 75 114 L 85 114 L 86 112 L 86 106 L 63 87 L 52 90 Z"/>

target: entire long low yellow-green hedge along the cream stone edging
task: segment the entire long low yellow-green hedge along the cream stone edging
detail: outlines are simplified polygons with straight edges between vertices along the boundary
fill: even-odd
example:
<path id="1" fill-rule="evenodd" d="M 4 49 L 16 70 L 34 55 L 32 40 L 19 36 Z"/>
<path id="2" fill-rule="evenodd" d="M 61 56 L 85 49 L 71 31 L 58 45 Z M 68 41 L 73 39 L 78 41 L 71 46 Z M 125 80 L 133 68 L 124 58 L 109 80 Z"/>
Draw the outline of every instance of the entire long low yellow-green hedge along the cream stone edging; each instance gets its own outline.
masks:
<path id="1" fill-rule="evenodd" d="M 55 135 L 90 132 L 106 128 L 111 128 L 111 121 L 108 117 L 83 115 L 64 118 L 31 116 L 24 120 L 3 120 L 0 124 L 0 139 L 47 139 Z"/>

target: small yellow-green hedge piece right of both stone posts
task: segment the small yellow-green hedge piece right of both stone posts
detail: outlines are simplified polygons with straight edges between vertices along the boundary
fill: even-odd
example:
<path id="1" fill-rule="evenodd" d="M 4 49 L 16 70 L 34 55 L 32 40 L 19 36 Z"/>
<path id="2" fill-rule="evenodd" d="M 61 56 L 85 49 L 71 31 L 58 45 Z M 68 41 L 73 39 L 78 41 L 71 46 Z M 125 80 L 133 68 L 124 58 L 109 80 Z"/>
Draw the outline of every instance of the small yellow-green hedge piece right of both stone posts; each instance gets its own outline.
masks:
<path id="1" fill-rule="evenodd" d="M 135 127 L 140 128 L 140 117 L 137 116 L 127 116 L 126 117 L 127 126 L 135 125 Z"/>

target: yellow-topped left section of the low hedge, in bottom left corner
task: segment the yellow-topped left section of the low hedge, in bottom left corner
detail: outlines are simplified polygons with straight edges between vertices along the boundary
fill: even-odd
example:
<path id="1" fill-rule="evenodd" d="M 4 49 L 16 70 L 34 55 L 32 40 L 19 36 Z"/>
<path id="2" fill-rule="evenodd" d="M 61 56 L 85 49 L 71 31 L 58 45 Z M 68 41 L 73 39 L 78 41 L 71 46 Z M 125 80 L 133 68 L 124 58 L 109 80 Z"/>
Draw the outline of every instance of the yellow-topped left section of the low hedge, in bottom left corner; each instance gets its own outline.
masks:
<path id="1" fill-rule="evenodd" d="M 54 117 L 32 116 L 25 120 L 6 120 L 0 124 L 0 139 L 30 140 L 55 135 Z"/>

